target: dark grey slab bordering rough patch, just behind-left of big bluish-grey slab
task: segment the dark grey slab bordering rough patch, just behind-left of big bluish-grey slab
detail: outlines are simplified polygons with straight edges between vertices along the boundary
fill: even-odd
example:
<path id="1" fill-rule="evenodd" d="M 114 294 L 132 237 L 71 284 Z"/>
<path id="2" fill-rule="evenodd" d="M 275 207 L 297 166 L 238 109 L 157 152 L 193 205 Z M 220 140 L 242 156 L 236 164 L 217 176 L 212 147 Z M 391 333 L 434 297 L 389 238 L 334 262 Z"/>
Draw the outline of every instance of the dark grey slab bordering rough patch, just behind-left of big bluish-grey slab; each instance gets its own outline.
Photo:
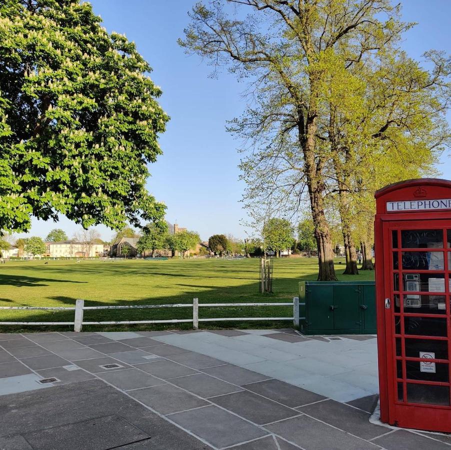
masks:
<path id="1" fill-rule="evenodd" d="M 161 414 L 169 414 L 171 412 L 182 411 L 184 409 L 191 409 L 209 404 L 205 400 L 197 398 L 178 387 L 171 386 L 170 384 L 130 390 L 128 394 Z"/>

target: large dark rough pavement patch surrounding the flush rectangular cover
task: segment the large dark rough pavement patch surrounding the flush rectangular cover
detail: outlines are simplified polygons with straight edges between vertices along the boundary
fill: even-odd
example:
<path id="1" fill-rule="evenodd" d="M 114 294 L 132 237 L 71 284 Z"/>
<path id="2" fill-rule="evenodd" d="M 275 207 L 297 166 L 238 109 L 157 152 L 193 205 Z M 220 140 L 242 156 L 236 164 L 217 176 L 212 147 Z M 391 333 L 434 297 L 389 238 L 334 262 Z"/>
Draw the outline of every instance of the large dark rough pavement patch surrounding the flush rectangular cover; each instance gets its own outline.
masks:
<path id="1" fill-rule="evenodd" d="M 11 404 L 14 404 L 13 408 Z M 208 448 L 195 437 L 99 379 L 0 396 L 0 429 L 2 433 L 8 433 L 4 437 L 11 437 L 48 428 L 49 424 L 67 425 L 110 415 L 114 411 L 120 411 L 123 419 L 152 436 L 145 450 Z M 74 450 L 77 448 L 76 436 L 65 442 L 70 443 Z M 42 450 L 49 448 L 59 447 L 50 446 Z M 91 448 L 94 450 L 99 447 Z"/>

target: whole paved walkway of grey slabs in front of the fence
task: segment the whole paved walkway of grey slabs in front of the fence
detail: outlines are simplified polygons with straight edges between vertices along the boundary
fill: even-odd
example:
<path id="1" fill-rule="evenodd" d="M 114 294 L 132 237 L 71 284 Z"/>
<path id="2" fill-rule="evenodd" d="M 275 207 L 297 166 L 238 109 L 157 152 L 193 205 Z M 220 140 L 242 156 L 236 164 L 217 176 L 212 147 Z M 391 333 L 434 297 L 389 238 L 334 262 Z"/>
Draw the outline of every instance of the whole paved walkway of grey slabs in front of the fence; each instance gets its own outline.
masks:
<path id="1" fill-rule="evenodd" d="M 372 424 L 374 336 L 0 334 L 0 449 L 450 450 Z"/>

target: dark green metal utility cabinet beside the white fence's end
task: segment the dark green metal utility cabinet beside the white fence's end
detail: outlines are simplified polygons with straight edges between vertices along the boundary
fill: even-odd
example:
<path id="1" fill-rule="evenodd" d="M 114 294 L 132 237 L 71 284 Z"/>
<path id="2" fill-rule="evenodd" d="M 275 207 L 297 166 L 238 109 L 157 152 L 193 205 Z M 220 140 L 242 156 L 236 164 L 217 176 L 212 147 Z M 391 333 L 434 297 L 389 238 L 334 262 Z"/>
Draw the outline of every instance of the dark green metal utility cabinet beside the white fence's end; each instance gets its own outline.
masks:
<path id="1" fill-rule="evenodd" d="M 375 334 L 374 281 L 299 282 L 299 330 L 304 334 Z"/>

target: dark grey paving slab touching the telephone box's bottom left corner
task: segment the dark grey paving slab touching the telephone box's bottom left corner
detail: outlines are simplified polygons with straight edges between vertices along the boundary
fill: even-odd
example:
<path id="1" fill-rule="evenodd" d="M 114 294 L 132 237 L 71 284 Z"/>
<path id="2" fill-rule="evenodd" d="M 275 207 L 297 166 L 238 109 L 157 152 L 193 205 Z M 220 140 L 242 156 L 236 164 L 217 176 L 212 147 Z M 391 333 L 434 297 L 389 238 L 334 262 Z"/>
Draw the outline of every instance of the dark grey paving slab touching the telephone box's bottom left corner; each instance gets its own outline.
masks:
<path id="1" fill-rule="evenodd" d="M 387 432 L 385 426 L 369 422 L 369 412 L 364 412 L 335 400 L 325 400 L 297 408 L 300 412 L 336 426 L 363 439 L 372 439 Z"/>

